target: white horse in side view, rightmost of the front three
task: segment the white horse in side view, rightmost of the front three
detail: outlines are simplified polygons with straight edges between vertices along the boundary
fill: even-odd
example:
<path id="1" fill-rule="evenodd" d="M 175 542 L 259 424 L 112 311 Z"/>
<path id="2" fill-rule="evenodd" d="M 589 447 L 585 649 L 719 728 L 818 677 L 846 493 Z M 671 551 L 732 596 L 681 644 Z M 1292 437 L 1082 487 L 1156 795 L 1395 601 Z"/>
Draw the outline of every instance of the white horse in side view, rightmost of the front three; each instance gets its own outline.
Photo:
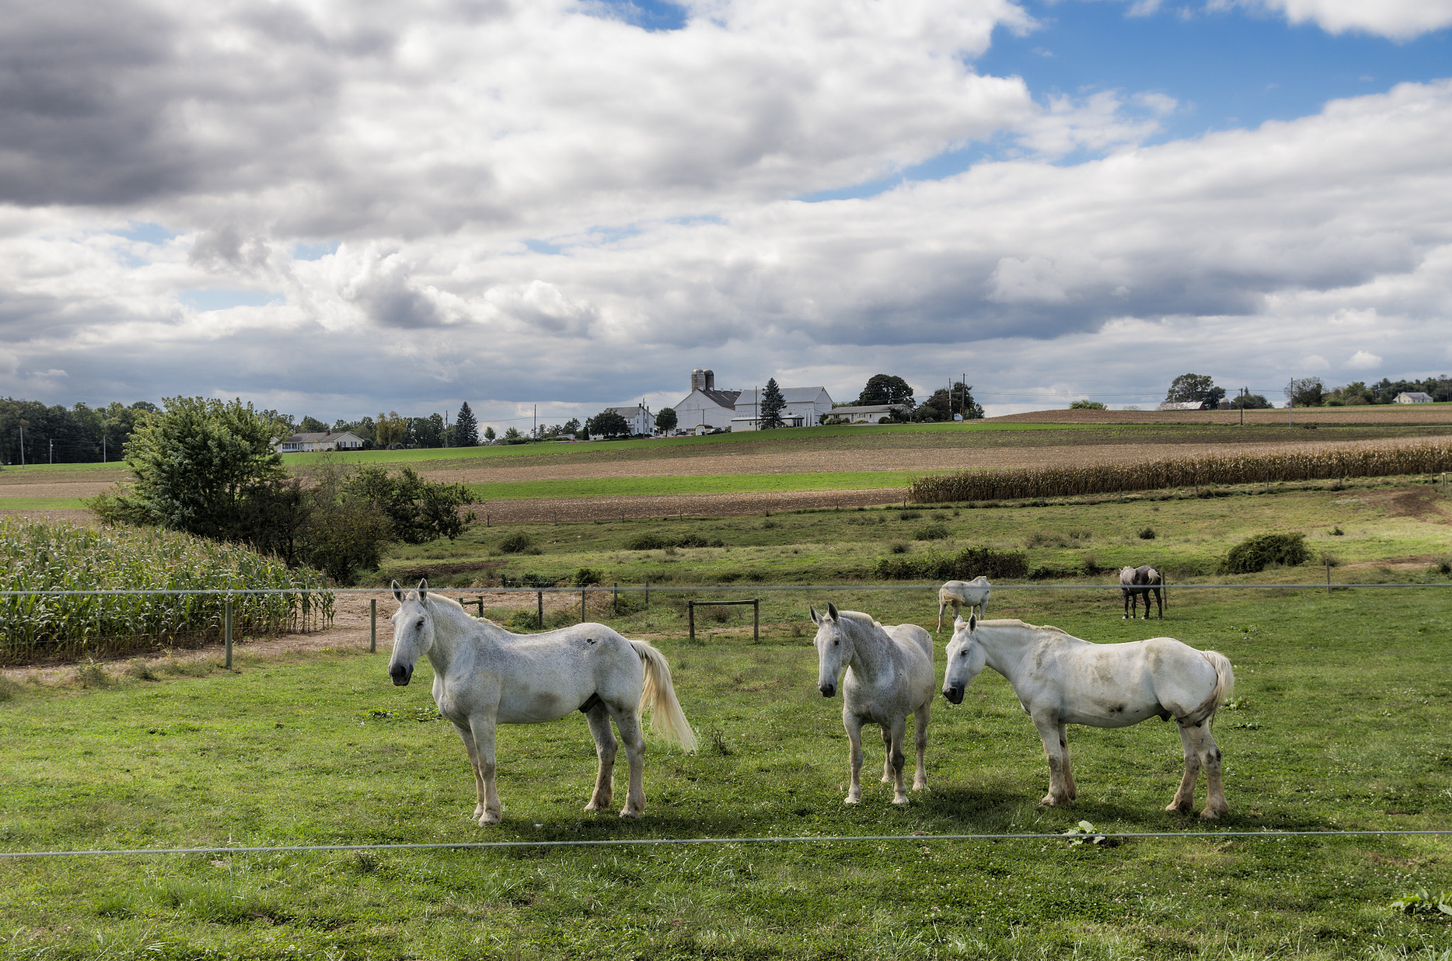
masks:
<path id="1" fill-rule="evenodd" d="M 942 695 L 963 703 L 968 684 L 987 665 L 1013 687 L 1034 720 L 1048 755 L 1048 796 L 1044 804 L 1069 804 L 1079 794 L 1069 769 L 1066 724 L 1128 727 L 1150 717 L 1179 721 L 1185 746 L 1185 778 L 1169 811 L 1189 813 L 1195 782 L 1205 768 L 1208 797 L 1201 817 L 1230 813 L 1220 772 L 1220 748 L 1210 735 L 1220 703 L 1234 692 L 1230 661 L 1214 650 L 1195 650 L 1173 637 L 1124 645 L 1090 645 L 1057 627 L 1019 620 L 953 626 Z"/>

